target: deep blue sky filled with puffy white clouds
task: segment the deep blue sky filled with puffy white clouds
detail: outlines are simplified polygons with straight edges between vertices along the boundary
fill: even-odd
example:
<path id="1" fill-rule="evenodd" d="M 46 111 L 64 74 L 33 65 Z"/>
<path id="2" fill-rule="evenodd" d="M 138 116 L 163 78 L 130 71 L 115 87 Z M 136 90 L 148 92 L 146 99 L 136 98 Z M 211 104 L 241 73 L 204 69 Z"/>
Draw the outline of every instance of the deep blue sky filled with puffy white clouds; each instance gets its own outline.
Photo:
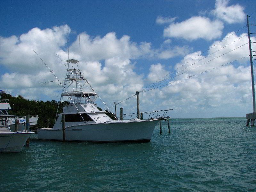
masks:
<path id="1" fill-rule="evenodd" d="M 169 115 L 176 118 L 252 112 L 249 57 L 241 58 L 249 54 L 246 15 L 256 24 L 254 1 L 3 0 L 0 5 L 0 83 L 14 96 L 59 100 L 61 87 L 39 85 L 54 77 L 31 48 L 62 78 L 56 54 L 67 60 L 69 38 L 69 56 L 79 60 L 80 35 L 81 69 L 108 106 L 171 73 L 159 84 L 168 85 L 141 92 L 141 111 L 173 108 Z M 241 60 L 232 62 L 236 59 Z M 136 112 L 136 98 L 119 107 Z"/>

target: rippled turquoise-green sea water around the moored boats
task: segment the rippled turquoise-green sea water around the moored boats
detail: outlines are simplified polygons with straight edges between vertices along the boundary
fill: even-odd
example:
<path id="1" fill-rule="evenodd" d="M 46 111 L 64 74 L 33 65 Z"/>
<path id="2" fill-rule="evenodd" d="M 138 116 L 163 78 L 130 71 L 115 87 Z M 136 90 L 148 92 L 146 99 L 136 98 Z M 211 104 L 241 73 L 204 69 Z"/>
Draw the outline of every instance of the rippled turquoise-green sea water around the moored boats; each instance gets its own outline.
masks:
<path id="1" fill-rule="evenodd" d="M 172 119 L 149 143 L 30 139 L 0 153 L 1 191 L 255 191 L 256 127 L 245 118 Z"/>

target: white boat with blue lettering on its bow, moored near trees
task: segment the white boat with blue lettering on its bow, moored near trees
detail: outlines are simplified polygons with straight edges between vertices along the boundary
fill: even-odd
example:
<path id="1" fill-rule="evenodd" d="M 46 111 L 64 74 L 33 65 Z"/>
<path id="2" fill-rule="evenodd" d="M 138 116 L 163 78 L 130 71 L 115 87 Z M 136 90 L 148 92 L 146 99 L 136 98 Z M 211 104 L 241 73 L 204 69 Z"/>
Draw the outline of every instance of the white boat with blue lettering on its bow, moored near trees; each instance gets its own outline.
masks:
<path id="1" fill-rule="evenodd" d="M 11 110 L 8 99 L 1 100 L 4 91 L 0 90 L 0 115 L 9 115 L 8 110 Z M 15 120 L 18 120 L 18 131 L 26 130 L 26 116 L 10 116 L 7 118 L 8 124 L 11 131 L 15 131 Z M 36 125 L 38 120 L 38 115 L 29 116 L 29 125 Z"/>

